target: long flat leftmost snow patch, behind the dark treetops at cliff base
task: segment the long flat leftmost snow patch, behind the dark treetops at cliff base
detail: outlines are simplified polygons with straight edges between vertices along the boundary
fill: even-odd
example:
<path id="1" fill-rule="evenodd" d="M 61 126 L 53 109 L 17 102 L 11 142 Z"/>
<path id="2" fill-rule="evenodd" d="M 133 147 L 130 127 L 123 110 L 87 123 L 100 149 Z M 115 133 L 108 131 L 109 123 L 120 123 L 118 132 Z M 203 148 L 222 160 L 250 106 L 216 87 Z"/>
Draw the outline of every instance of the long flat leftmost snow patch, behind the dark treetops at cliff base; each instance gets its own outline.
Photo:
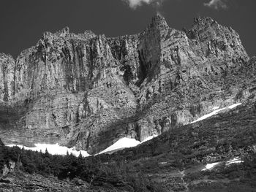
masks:
<path id="1" fill-rule="evenodd" d="M 70 154 L 72 153 L 75 156 L 78 156 L 80 153 L 81 155 L 83 155 L 83 157 L 87 157 L 89 156 L 89 154 L 84 151 L 84 150 L 75 150 L 74 148 L 68 148 L 68 147 L 63 147 L 60 146 L 58 144 L 56 145 L 50 145 L 50 144 L 35 144 L 35 147 L 25 147 L 23 145 L 7 145 L 7 147 L 20 147 L 23 148 L 25 150 L 33 150 L 33 151 L 42 151 L 42 153 L 45 153 L 45 150 L 48 150 L 48 153 L 50 153 L 51 155 L 67 155 L 67 152 Z"/>

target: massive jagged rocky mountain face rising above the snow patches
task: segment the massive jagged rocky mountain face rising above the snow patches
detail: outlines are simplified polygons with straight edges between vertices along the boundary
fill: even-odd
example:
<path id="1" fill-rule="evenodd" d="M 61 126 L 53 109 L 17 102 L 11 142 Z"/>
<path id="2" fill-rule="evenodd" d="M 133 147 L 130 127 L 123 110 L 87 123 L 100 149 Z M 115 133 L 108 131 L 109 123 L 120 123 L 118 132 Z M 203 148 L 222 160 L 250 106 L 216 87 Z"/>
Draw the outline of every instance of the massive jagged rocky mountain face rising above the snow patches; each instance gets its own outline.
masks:
<path id="1" fill-rule="evenodd" d="M 89 153 L 121 137 L 142 141 L 254 98 L 233 81 L 246 64 L 236 31 L 211 18 L 178 31 L 157 15 L 142 33 L 116 38 L 47 32 L 16 61 L 0 55 L 1 138 Z"/>

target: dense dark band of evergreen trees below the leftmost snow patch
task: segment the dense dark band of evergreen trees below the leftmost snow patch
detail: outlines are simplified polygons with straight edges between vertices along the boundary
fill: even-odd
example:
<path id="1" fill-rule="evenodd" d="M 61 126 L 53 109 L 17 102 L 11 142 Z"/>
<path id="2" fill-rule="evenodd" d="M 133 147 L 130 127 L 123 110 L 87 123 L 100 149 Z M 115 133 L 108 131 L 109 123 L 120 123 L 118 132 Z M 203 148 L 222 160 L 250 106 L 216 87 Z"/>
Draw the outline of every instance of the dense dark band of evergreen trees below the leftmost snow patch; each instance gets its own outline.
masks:
<path id="1" fill-rule="evenodd" d="M 141 172 L 129 172 L 124 161 L 106 161 L 108 155 L 78 158 L 75 155 L 50 155 L 19 147 L 0 147 L 0 169 L 17 162 L 17 167 L 29 174 L 53 175 L 60 180 L 80 178 L 86 183 L 104 188 L 119 188 L 124 191 L 161 191 L 157 183 L 151 183 Z"/>

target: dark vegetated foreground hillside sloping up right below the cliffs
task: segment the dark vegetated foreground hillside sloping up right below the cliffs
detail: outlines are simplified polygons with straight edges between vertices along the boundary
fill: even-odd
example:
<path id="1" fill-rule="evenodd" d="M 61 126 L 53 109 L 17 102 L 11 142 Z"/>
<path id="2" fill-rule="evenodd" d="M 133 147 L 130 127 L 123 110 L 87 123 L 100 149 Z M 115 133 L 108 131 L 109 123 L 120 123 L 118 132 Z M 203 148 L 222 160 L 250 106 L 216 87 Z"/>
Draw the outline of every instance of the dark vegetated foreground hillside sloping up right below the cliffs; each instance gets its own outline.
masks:
<path id="1" fill-rule="evenodd" d="M 255 105 L 248 102 L 112 155 L 75 158 L 1 147 L 1 169 L 5 171 L 0 188 L 1 191 L 256 191 L 255 128 Z M 236 160 L 238 164 L 230 163 Z M 219 164 L 206 169 L 206 164 L 213 163 Z"/>

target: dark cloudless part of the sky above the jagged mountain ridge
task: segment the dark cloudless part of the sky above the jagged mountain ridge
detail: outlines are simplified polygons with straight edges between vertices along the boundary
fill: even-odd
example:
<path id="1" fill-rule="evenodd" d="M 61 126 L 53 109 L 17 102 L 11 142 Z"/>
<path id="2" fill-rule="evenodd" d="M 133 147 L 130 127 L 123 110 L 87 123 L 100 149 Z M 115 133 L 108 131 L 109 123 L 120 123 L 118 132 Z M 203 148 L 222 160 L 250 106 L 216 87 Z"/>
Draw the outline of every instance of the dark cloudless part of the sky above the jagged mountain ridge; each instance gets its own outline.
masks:
<path id="1" fill-rule="evenodd" d="M 203 4 L 210 0 L 165 0 L 162 15 L 172 28 L 190 28 L 193 18 L 210 16 L 240 34 L 249 55 L 256 55 L 256 0 L 222 0 L 227 9 L 211 9 Z M 107 37 L 143 31 L 156 14 L 144 4 L 130 9 L 122 0 L 1 0 L 0 53 L 14 57 L 37 43 L 44 31 L 85 30 Z"/>

